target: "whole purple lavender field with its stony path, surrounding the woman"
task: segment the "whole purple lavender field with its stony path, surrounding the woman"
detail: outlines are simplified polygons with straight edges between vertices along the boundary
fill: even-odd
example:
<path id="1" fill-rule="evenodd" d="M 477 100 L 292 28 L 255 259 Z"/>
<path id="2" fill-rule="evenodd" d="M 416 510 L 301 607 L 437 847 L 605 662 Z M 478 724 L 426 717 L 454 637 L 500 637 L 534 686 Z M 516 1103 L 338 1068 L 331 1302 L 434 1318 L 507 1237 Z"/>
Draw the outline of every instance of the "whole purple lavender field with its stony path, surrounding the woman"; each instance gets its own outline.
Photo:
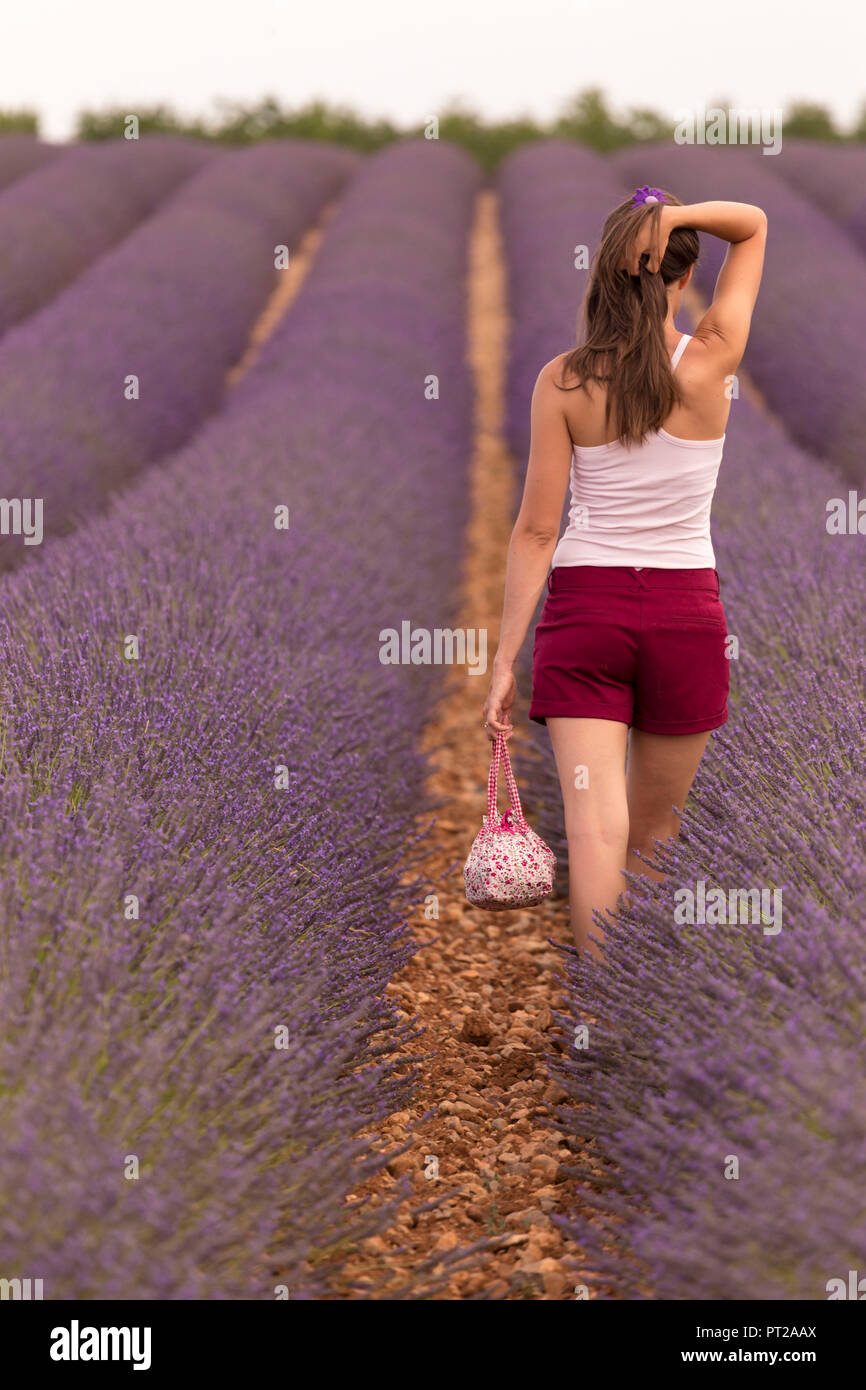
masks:
<path id="1" fill-rule="evenodd" d="M 826 524 L 863 478 L 866 243 L 837 153 L 542 140 L 485 182 L 435 139 L 0 138 L 0 1277 L 428 1300 L 453 1268 L 450 1297 L 762 1301 L 866 1268 L 866 560 Z M 770 217 L 744 361 L 769 409 L 734 400 L 714 509 L 731 719 L 606 966 L 562 899 L 499 915 L 480 959 L 477 824 L 435 803 L 424 737 L 453 673 L 384 663 L 382 632 L 474 612 L 478 398 L 502 392 L 516 509 L 575 249 L 635 181 Z M 445 756 L 480 821 L 470 719 Z M 698 883 L 776 894 L 778 927 L 680 924 Z"/>

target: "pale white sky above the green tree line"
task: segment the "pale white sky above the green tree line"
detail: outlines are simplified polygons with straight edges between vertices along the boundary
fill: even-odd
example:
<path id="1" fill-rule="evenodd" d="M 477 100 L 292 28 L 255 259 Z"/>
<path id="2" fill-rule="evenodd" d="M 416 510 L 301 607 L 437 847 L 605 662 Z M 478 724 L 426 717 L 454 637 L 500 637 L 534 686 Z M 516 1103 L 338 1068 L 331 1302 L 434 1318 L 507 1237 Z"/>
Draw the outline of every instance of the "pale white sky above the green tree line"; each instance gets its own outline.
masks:
<path id="1" fill-rule="evenodd" d="M 83 107 L 313 97 L 420 124 L 461 97 L 541 120 L 587 86 L 616 110 L 866 99 L 860 0 L 0 0 L 0 106 L 67 139 Z"/>

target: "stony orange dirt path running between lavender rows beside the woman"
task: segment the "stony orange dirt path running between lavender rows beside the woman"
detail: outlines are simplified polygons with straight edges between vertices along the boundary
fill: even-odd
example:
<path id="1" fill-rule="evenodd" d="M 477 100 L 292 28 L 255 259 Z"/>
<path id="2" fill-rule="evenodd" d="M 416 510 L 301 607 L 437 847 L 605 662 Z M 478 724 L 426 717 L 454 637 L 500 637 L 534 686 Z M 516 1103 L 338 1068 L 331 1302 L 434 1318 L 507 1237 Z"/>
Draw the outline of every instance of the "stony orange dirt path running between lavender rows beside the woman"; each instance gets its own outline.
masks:
<path id="1" fill-rule="evenodd" d="M 475 377 L 475 448 L 471 460 L 471 521 L 460 612 L 455 626 L 487 628 L 488 659 L 496 648 L 505 557 L 512 527 L 514 460 L 503 438 L 506 293 L 496 197 L 480 195 L 470 246 L 470 360 Z M 548 901 L 527 912 L 488 913 L 463 892 L 463 862 L 485 809 L 489 744 L 481 706 L 487 677 L 452 667 L 446 692 L 424 731 L 432 756 L 430 790 L 443 810 L 434 828 L 428 872 L 438 920 L 420 908 L 413 930 L 423 948 L 388 987 L 406 1015 L 425 1029 L 418 1052 L 424 1084 L 411 1111 L 384 1127 L 389 1145 L 438 1108 L 414 1134 L 411 1148 L 356 1195 L 393 1194 L 407 1175 L 414 1202 L 396 1226 L 375 1236 L 348 1261 L 346 1279 L 373 1297 L 411 1286 L 413 1269 L 438 1251 L 484 1237 L 496 1240 L 481 1269 L 450 1273 L 441 1298 L 569 1298 L 573 1277 L 560 1264 L 564 1245 L 556 1211 L 569 1154 L 542 1127 L 548 1102 L 564 1093 L 548 1080 L 544 1054 L 560 962 L 546 938 L 569 940 L 566 906 Z M 524 699 L 528 692 L 523 692 Z M 525 716 L 524 716 L 525 717 Z M 518 737 L 518 735 L 516 735 Z M 430 1158 L 438 1159 L 438 1179 Z M 410 1207 L 442 1193 L 435 1209 L 413 1218 Z M 375 1290 L 375 1293 L 374 1293 Z M 356 1294 L 357 1297 L 357 1294 Z"/>

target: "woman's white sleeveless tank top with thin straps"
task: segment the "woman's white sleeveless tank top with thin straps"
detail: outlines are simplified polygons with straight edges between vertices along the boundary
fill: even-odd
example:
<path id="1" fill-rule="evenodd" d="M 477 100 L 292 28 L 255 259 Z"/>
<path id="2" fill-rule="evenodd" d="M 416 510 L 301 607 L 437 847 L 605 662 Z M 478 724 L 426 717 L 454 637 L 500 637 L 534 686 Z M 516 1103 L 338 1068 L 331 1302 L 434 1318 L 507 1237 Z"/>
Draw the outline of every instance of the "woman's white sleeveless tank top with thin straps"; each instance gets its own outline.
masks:
<path id="1" fill-rule="evenodd" d="M 680 338 L 671 368 L 689 342 Z M 574 445 L 569 525 L 552 567 L 714 569 L 710 507 L 723 446 L 724 435 L 680 439 L 667 430 L 630 449 L 620 439 Z"/>

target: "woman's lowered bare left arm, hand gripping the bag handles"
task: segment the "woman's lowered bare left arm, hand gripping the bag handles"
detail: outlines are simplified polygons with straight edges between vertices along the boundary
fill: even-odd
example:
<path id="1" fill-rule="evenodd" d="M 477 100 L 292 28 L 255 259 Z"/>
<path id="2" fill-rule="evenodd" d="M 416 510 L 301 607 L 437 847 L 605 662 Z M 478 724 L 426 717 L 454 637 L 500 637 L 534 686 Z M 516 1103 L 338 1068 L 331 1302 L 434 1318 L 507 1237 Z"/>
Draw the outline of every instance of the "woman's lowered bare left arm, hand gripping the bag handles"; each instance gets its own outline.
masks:
<path id="1" fill-rule="evenodd" d="M 559 364 L 560 359 L 553 359 L 542 367 L 532 391 L 530 461 L 509 543 L 499 646 L 484 706 L 489 737 L 512 728 L 514 662 L 548 578 L 569 485 L 571 436 L 563 393 L 553 385 Z"/>

